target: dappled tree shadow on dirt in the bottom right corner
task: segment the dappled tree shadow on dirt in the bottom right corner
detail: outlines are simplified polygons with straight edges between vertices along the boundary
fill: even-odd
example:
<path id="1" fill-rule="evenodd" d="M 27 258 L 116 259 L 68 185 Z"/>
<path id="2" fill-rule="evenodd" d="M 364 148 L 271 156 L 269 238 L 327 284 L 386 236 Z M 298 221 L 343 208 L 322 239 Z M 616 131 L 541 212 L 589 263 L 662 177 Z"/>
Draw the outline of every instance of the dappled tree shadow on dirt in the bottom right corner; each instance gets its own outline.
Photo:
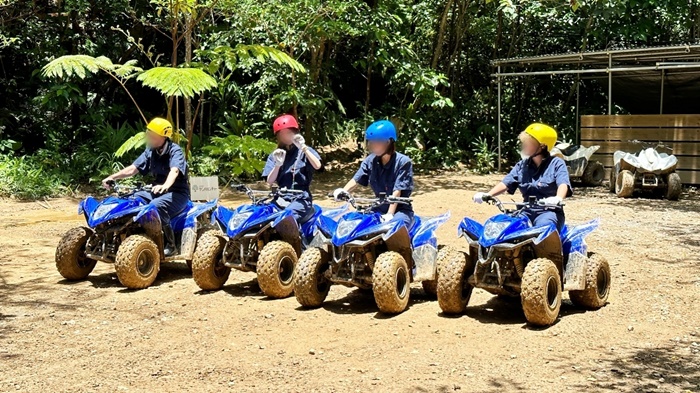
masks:
<path id="1" fill-rule="evenodd" d="M 693 337 L 691 337 L 693 338 Z M 574 390 L 668 392 L 700 389 L 700 346 L 674 342 L 599 360 L 595 381 Z M 700 341 L 700 340 L 698 340 Z"/>

